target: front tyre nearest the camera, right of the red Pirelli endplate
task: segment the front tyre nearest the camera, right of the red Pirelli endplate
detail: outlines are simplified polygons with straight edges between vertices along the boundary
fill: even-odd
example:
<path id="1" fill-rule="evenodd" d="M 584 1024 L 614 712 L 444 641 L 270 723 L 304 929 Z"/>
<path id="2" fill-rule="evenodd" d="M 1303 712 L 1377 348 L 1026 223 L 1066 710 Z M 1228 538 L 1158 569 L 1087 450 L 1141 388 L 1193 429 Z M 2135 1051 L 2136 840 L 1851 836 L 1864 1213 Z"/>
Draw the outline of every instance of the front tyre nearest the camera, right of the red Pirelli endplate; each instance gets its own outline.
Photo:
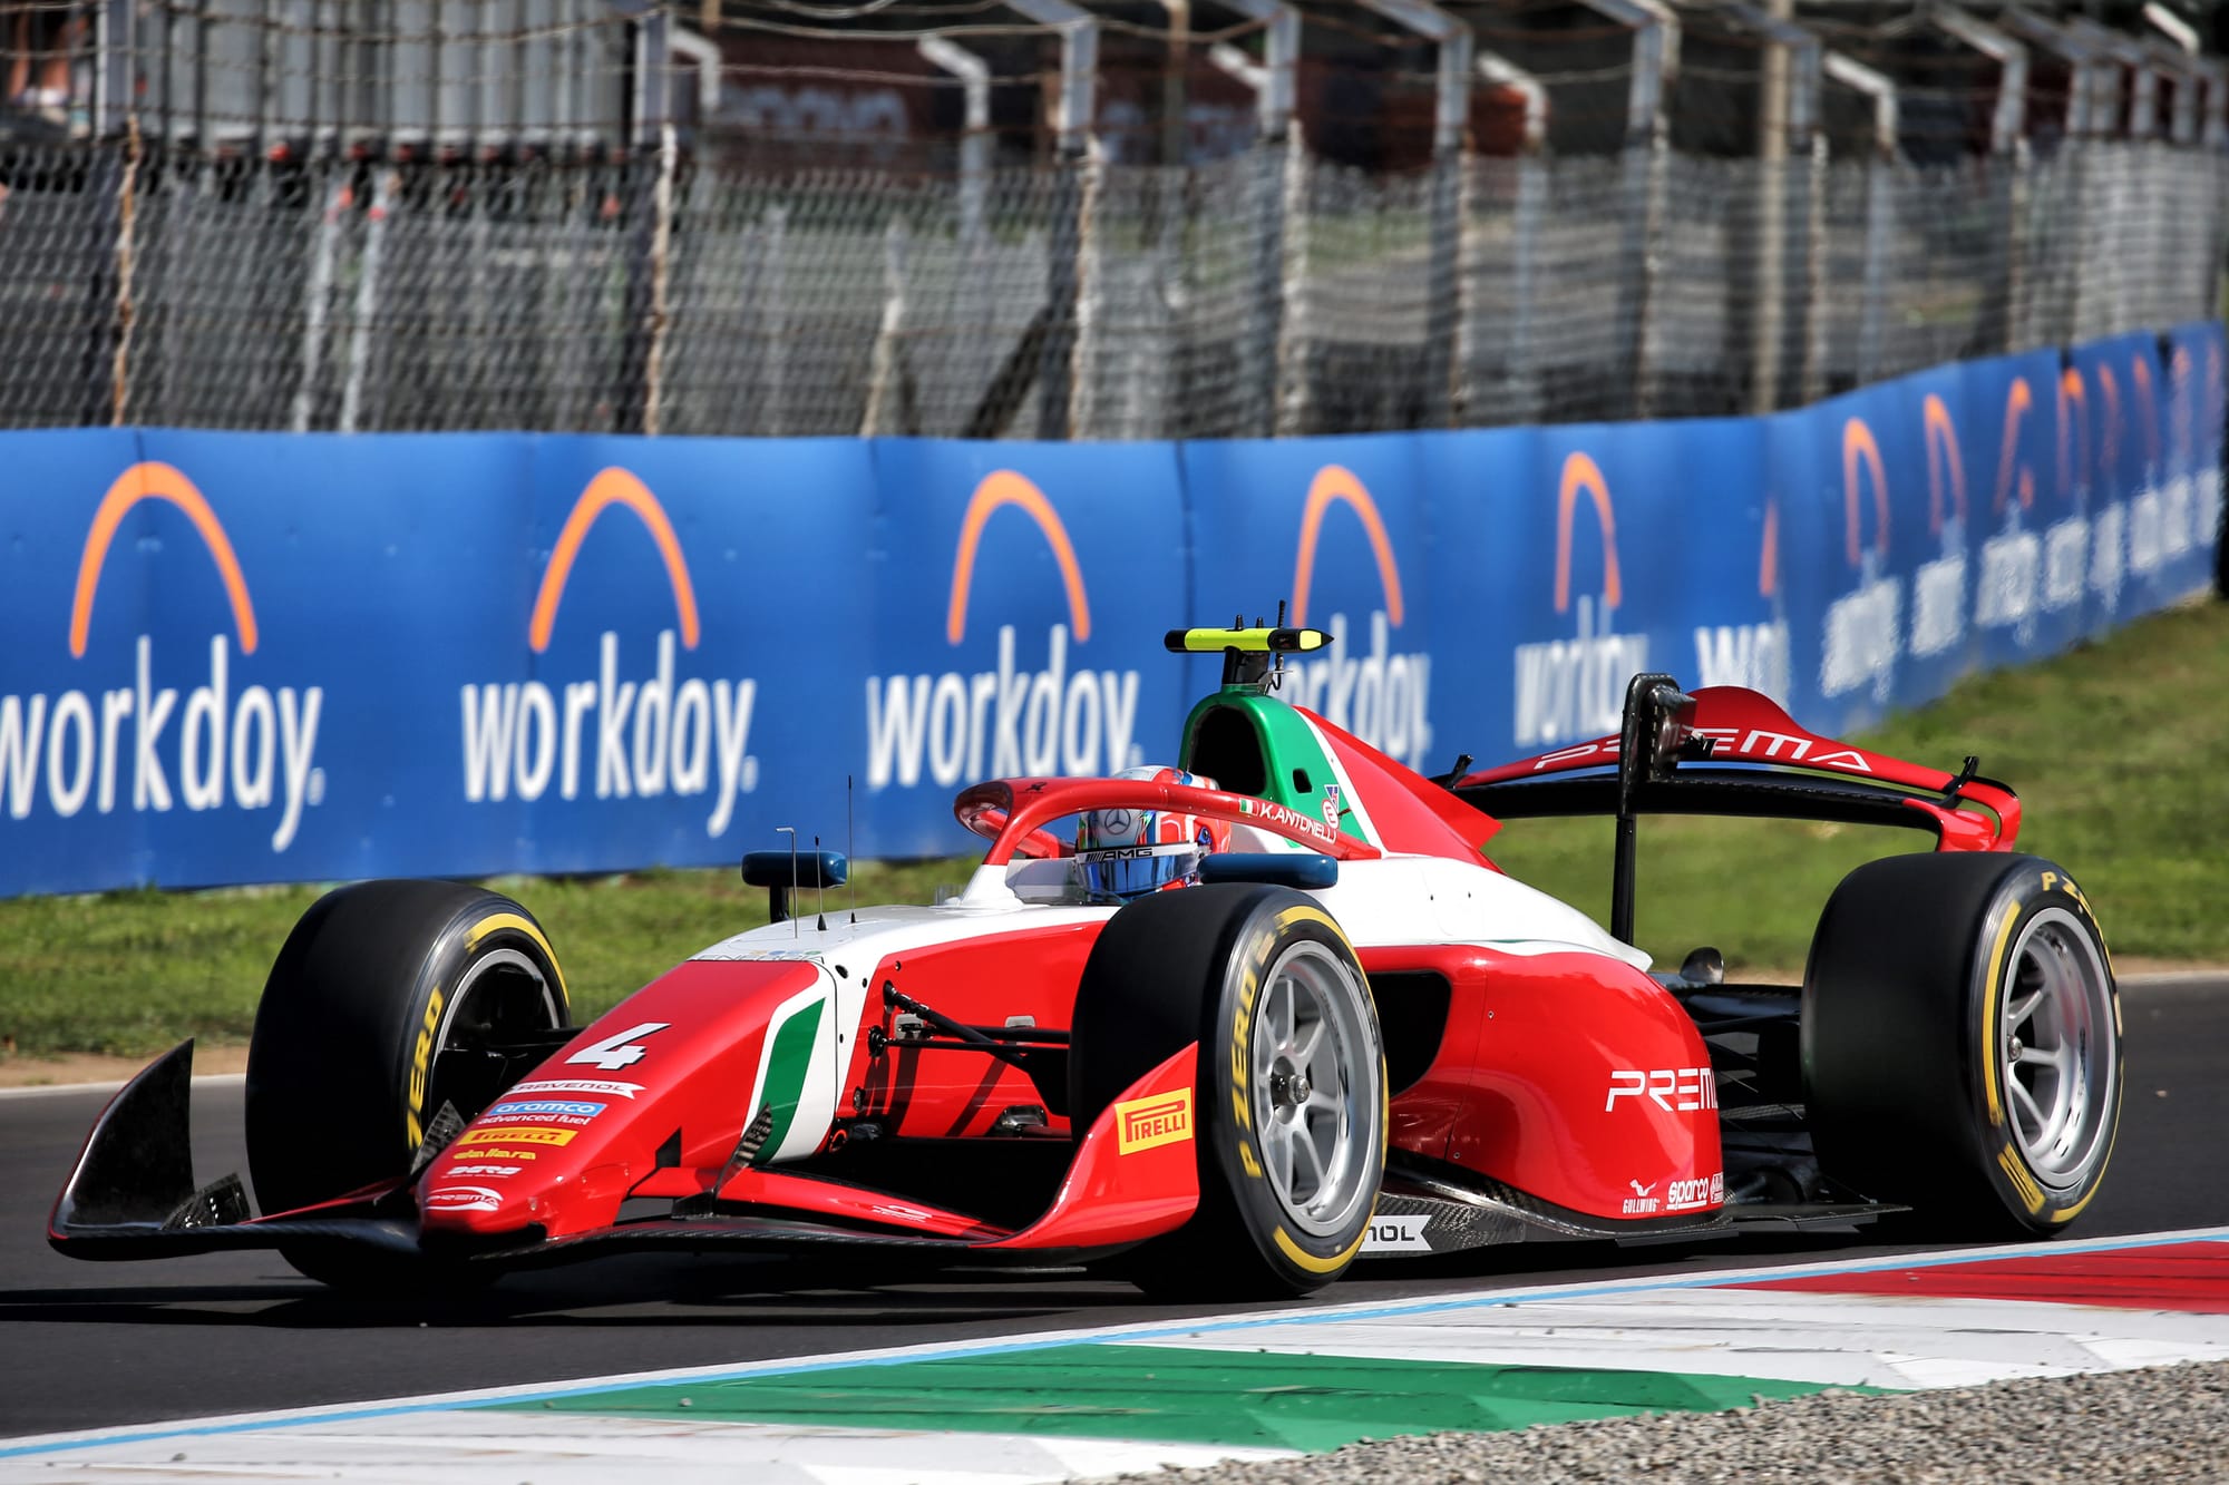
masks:
<path id="1" fill-rule="evenodd" d="M 1143 896 L 1106 925 L 1077 990 L 1070 1122 L 1199 1044 L 1199 1211 L 1110 1269 L 1157 1295 L 1308 1293 L 1362 1246 L 1386 1157 L 1369 979 L 1291 887 Z"/>

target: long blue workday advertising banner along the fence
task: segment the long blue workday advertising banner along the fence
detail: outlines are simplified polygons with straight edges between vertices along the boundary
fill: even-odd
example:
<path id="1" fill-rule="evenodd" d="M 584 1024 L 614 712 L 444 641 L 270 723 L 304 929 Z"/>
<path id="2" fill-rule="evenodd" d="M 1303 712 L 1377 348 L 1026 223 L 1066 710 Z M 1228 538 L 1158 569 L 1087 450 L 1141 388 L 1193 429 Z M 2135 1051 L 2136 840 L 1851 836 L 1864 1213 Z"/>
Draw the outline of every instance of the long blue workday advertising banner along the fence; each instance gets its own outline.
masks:
<path id="1" fill-rule="evenodd" d="M 7 433 L 0 894 L 965 852 L 979 778 L 1172 763 L 1161 633 L 1279 600 L 1337 635 L 1286 696 L 1427 771 L 1636 669 L 1852 731 L 2211 582 L 2225 355 L 1181 446 Z"/>

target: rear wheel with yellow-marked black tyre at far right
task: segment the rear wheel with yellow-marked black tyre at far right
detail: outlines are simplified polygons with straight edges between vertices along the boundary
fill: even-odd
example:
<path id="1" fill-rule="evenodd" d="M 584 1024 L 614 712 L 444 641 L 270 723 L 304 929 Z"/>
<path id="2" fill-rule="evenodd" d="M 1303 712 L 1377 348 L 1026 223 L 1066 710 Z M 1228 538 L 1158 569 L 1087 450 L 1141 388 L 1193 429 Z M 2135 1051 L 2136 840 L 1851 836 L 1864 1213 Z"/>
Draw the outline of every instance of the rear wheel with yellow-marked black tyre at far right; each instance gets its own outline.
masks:
<path id="1" fill-rule="evenodd" d="M 2120 1128 L 2120 994 L 2051 861 L 1890 856 L 1841 881 L 1803 970 L 1803 1088 L 1826 1175 L 1933 1235 L 2057 1233 Z"/>

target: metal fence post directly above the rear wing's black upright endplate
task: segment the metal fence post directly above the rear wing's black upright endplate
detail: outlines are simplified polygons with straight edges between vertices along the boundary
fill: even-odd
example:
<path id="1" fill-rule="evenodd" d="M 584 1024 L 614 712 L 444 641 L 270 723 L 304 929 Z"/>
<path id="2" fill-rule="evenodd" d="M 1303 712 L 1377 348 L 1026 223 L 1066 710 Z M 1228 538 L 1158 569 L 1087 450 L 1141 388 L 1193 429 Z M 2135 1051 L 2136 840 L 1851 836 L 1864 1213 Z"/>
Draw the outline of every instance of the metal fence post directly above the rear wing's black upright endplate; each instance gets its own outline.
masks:
<path id="1" fill-rule="evenodd" d="M 1678 76 L 1678 16 L 1663 0 L 1580 0 L 1634 29 L 1634 85 L 1625 103 L 1625 241 L 1618 268 L 1618 339 L 1632 366 L 1632 392 L 1603 417 L 1649 417 L 1649 317 L 1656 299 L 1656 241 L 1663 234 L 1665 172 L 1672 154 L 1667 98 Z"/>

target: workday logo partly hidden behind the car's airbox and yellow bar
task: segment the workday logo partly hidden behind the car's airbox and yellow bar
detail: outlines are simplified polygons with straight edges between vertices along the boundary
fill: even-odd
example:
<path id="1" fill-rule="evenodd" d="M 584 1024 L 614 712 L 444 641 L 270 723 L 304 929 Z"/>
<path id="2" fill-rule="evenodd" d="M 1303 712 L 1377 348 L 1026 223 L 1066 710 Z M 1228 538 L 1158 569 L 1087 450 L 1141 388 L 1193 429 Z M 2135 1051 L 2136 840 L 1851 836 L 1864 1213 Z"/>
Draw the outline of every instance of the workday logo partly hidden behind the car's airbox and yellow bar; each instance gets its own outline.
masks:
<path id="1" fill-rule="evenodd" d="M 1308 622 L 1315 551 L 1322 542 L 1324 517 L 1335 504 L 1351 508 L 1362 522 L 1371 555 L 1378 560 L 1378 589 L 1384 604 L 1371 611 L 1369 651 L 1349 642 L 1346 615 L 1333 613 L 1324 622 L 1331 647 L 1320 660 L 1293 667 L 1297 680 L 1291 685 L 1297 689 L 1291 698 L 1324 716 L 1333 727 L 1344 727 L 1371 747 L 1415 765 L 1431 754 L 1431 656 L 1391 649 L 1391 631 L 1400 629 L 1406 618 L 1400 564 L 1393 560 L 1393 542 L 1386 537 L 1369 486 L 1337 464 L 1315 470 L 1300 513 L 1300 551 L 1293 557 L 1293 624 Z"/>

